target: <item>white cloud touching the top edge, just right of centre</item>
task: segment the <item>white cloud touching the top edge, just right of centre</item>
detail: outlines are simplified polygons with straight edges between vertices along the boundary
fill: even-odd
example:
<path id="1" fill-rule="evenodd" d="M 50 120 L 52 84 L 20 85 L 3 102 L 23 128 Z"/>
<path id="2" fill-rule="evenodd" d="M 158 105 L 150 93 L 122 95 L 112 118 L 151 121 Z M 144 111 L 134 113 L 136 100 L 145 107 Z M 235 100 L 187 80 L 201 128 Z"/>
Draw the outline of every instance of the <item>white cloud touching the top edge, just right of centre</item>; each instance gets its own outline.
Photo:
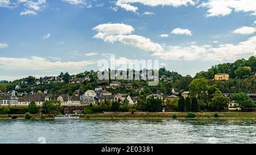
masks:
<path id="1" fill-rule="evenodd" d="M 193 0 L 118 0 L 115 5 L 125 9 L 126 11 L 136 12 L 138 10 L 137 6 L 133 6 L 133 3 L 141 3 L 144 6 L 187 6 L 187 5 L 195 5 L 195 1 Z"/>

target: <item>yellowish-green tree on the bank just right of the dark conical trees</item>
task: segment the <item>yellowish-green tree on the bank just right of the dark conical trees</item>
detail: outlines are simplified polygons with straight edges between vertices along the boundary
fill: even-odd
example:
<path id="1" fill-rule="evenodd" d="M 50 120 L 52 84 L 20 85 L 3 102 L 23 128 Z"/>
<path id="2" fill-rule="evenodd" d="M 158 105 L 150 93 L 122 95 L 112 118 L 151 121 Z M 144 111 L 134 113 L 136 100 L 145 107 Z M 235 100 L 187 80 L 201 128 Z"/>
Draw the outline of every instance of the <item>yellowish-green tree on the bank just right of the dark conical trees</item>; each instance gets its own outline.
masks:
<path id="1" fill-rule="evenodd" d="M 213 98 L 210 100 L 209 107 L 214 111 L 224 110 L 228 107 L 230 100 L 222 95 L 221 91 L 217 90 Z"/>

